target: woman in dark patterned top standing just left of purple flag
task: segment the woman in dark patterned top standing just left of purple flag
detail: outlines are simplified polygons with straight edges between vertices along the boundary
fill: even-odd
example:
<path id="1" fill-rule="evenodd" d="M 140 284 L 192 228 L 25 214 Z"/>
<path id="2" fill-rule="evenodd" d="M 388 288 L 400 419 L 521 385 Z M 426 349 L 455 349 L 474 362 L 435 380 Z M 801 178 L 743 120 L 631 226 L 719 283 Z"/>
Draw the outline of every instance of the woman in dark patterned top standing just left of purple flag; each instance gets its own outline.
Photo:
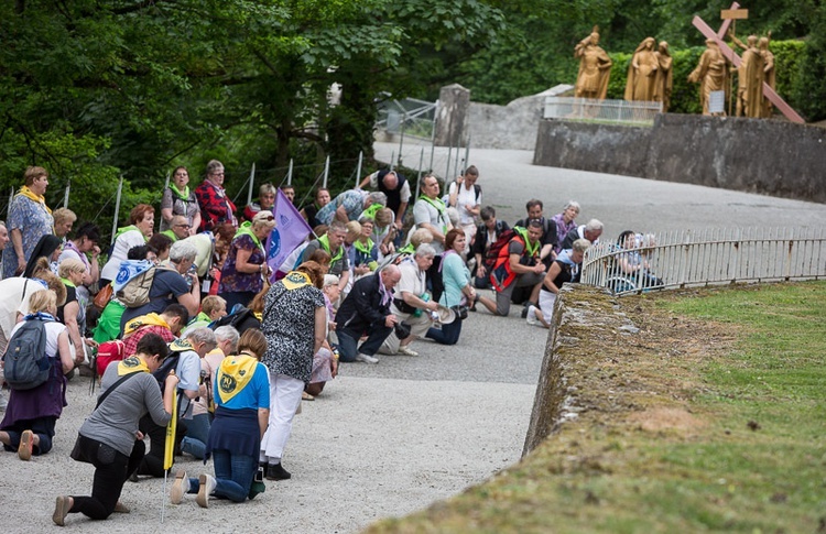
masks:
<path id="1" fill-rule="evenodd" d="M 264 242 L 273 228 L 275 217 L 265 209 L 238 228 L 221 268 L 218 286 L 218 295 L 227 301 L 229 313 L 236 304 L 247 306 L 264 288 L 264 280 L 270 275 Z"/>

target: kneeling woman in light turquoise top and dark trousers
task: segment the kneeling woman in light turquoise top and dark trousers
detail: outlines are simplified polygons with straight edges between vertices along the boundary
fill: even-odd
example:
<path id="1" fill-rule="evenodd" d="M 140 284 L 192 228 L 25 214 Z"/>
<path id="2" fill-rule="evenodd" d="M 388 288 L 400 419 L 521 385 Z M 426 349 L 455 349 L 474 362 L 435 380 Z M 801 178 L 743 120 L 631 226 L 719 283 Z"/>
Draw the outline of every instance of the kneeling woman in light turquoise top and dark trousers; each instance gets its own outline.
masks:
<path id="1" fill-rule="evenodd" d="M 442 282 L 445 291 L 442 293 L 439 304 L 448 308 L 458 308 L 467 304 L 482 302 L 488 309 L 496 309 L 496 303 L 488 297 L 477 296 L 476 290 L 470 283 L 470 271 L 461 260 L 465 250 L 465 231 L 454 228 L 447 232 L 445 238 L 445 253 L 442 258 Z M 456 317 L 452 323 L 443 324 L 442 328 L 431 327 L 427 330 L 428 339 L 441 345 L 456 345 L 461 335 L 461 319 Z"/>

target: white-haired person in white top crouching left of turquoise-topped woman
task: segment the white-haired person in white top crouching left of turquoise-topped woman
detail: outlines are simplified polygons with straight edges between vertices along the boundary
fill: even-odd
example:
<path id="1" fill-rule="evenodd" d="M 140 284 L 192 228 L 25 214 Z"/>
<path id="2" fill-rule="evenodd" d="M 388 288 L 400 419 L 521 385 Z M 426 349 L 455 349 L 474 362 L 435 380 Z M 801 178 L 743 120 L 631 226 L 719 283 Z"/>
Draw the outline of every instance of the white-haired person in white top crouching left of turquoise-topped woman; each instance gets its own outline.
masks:
<path id="1" fill-rule="evenodd" d="M 438 310 L 438 303 L 431 301 L 427 294 L 426 273 L 433 265 L 436 249 L 432 244 L 422 243 L 412 258 L 399 264 L 402 277 L 395 286 L 390 313 L 401 322 L 402 329 L 410 328 L 410 334 L 402 333 L 396 327 L 381 345 L 379 350 L 383 355 L 419 356 L 410 345 L 420 336 L 427 333 L 433 324 L 431 312 Z"/>

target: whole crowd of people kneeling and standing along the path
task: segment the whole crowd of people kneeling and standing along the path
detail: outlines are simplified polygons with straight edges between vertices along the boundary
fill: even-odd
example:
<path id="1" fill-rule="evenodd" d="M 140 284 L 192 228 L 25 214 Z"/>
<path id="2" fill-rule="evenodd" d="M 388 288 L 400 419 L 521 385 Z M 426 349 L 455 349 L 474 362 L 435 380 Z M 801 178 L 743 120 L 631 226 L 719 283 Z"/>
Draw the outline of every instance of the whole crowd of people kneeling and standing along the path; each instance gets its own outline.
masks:
<path id="1" fill-rule="evenodd" d="M 335 197 L 319 188 L 296 207 L 314 231 L 272 269 L 275 203 L 292 203 L 294 188 L 281 186 L 280 197 L 264 184 L 239 210 L 224 177 L 224 165 L 210 161 L 191 188 L 188 170 L 175 168 L 159 231 L 155 207 L 134 206 L 102 265 L 99 228 L 85 222 L 73 232 L 75 215 L 46 206 L 43 167 L 26 170 L 0 224 L 0 353 L 40 328 L 50 366 L 45 381 L 9 383 L 8 401 L 0 397 L 3 448 L 22 460 L 47 454 L 67 380 L 100 371 L 101 395 L 73 451 L 96 469 L 91 494 L 58 497 L 58 525 L 70 513 L 123 511 L 127 480 L 167 472 L 166 439 L 175 455 L 213 459 L 213 472 L 176 471 L 173 503 L 188 493 L 204 508 L 210 498 L 254 498 L 264 479 L 292 477 L 282 459 L 293 418 L 302 400 L 335 379 L 339 361 L 415 357 L 420 339 L 455 345 L 468 312 L 508 316 L 513 303 L 529 324 L 548 327 L 556 294 L 578 280 L 604 229 L 596 219 L 577 225 L 576 201 L 545 217 L 535 198 L 511 227 L 482 205 L 475 166 L 444 194 L 424 175 L 415 199 L 404 176 L 380 171 Z M 634 248 L 631 238 L 621 246 Z M 648 269 L 635 252 L 621 261 Z M 173 417 L 177 431 L 167 438 Z"/>

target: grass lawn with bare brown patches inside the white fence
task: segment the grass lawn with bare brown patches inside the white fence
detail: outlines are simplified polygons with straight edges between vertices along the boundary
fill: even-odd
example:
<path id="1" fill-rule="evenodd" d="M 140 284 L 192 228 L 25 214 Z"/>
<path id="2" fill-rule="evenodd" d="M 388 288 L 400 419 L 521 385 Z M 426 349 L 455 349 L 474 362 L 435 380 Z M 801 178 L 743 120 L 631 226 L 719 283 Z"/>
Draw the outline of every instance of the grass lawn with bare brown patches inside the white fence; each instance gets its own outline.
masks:
<path id="1" fill-rule="evenodd" d="M 561 327 L 577 416 L 369 532 L 826 533 L 826 283 L 591 297 L 640 331 Z"/>

